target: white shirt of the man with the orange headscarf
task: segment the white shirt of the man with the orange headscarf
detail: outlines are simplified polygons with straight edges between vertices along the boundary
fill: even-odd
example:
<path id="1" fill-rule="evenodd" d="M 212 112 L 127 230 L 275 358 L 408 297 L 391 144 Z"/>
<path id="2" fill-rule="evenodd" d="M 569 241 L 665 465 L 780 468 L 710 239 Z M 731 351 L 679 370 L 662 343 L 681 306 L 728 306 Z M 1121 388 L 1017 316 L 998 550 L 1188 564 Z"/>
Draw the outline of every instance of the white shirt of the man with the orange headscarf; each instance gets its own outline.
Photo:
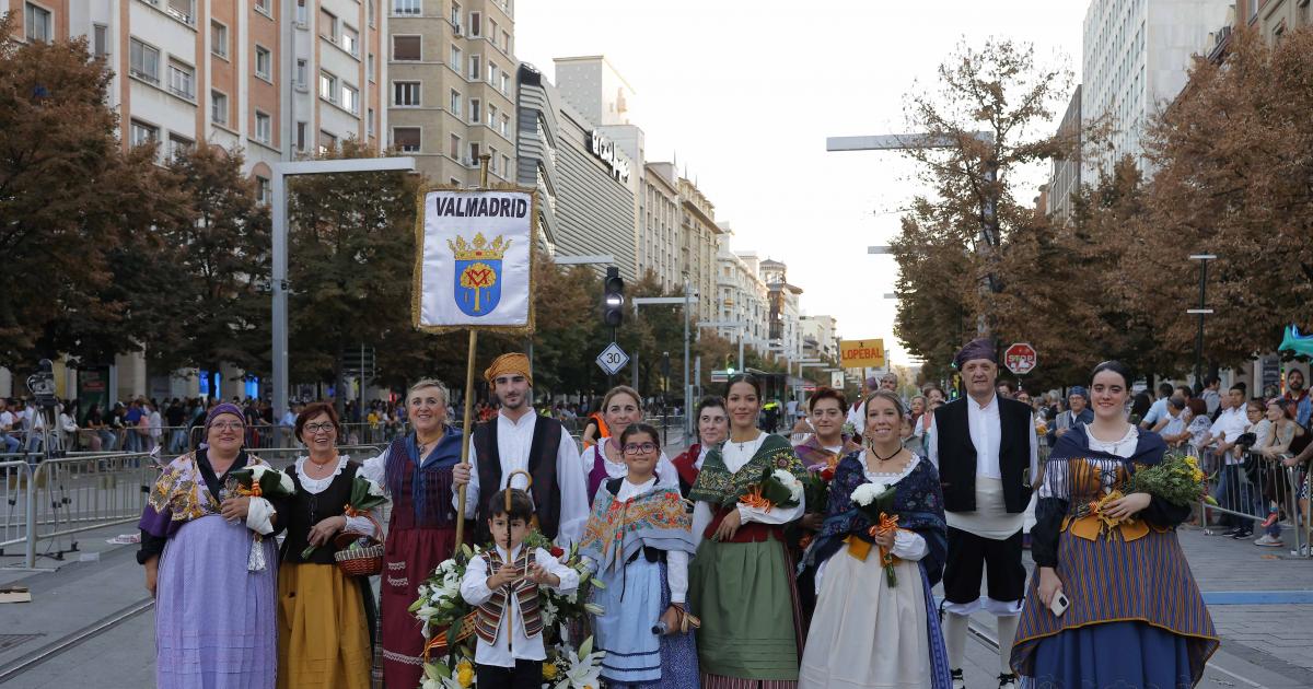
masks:
<path id="1" fill-rule="evenodd" d="M 496 451 L 502 459 L 502 484 L 498 491 L 507 487 L 506 482 L 513 471 L 529 470 L 529 446 L 533 445 L 533 429 L 537 427 L 538 415 L 529 409 L 519 421 L 512 421 L 506 415 L 496 416 Z M 470 444 L 470 465 L 475 467 L 470 472 L 470 484 L 465 490 L 465 518 L 474 518 L 474 507 L 479 504 L 479 458 L 474 444 Z M 679 480 L 678 478 L 675 479 Z M 515 488 L 524 488 L 524 476 L 516 476 Z M 561 547 L 579 541 L 583 535 L 583 526 L 588 521 L 588 480 L 582 471 L 579 448 L 575 446 L 570 433 L 562 430 L 561 445 L 557 448 L 557 490 L 561 491 L 561 525 L 557 529 L 555 542 Z M 457 493 L 452 491 L 452 504 L 457 504 Z M 490 493 L 491 495 L 491 493 Z M 532 497 L 532 493 L 530 493 Z"/>

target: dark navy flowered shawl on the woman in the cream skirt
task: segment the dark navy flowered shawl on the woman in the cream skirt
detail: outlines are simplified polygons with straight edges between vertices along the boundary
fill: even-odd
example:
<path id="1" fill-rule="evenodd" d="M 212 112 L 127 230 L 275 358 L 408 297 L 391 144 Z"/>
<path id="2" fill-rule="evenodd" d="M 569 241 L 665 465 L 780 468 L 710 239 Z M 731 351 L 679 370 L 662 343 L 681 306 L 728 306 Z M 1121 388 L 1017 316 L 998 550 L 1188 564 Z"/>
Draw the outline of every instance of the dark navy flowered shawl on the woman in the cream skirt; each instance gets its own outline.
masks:
<path id="1" fill-rule="evenodd" d="M 898 528 L 920 534 L 926 539 L 928 553 L 920 559 L 926 579 L 931 587 L 939 583 L 944 574 L 948 555 L 948 530 L 944 522 L 944 493 L 939 487 L 939 472 L 927 459 L 918 457 L 915 469 L 894 484 L 894 511 L 898 514 Z M 839 462 L 830 483 L 830 505 L 826 509 L 825 524 L 811 547 L 804 556 L 802 566 L 818 566 L 839 551 L 843 539 L 850 534 L 867 542 L 874 542 L 868 534 L 871 520 L 852 501 L 852 491 L 857 486 L 871 483 L 861 466 L 861 451 L 855 451 Z"/>

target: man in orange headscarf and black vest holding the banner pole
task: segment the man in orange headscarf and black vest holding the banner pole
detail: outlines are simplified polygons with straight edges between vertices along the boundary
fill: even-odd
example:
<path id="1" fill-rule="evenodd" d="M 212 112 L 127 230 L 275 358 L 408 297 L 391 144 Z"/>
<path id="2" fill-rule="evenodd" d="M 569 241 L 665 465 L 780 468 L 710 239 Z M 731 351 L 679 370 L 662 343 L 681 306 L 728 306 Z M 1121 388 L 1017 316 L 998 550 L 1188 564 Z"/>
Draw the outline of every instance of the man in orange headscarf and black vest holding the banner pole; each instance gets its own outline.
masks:
<path id="1" fill-rule="evenodd" d="M 540 416 L 532 404 L 533 374 L 529 358 L 520 353 L 502 354 L 483 371 L 492 392 L 502 402 L 498 415 L 474 427 L 470 434 L 470 463 L 456 465 L 456 487 L 469 484 L 465 518 L 473 518 L 475 542 L 491 541 L 483 495 L 507 488 L 513 471 L 528 471 L 533 486 L 534 518 L 544 535 L 565 547 L 579 541 L 588 521 L 588 496 L 579 448 L 561 421 Z M 471 470 L 473 466 L 473 470 Z M 488 486 L 490 488 L 481 490 Z M 513 488 L 525 488 L 524 478 Z M 453 497 L 453 504 L 457 497 Z"/>

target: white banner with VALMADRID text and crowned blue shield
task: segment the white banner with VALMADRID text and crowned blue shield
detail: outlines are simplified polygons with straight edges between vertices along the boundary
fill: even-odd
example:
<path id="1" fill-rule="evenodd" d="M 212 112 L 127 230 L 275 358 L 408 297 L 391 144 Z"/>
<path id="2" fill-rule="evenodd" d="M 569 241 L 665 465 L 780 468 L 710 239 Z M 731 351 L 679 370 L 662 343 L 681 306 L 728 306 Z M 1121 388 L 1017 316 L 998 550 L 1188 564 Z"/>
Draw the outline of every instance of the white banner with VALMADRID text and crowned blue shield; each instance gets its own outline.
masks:
<path id="1" fill-rule="evenodd" d="M 428 189 L 415 222 L 415 327 L 533 332 L 534 194 Z"/>

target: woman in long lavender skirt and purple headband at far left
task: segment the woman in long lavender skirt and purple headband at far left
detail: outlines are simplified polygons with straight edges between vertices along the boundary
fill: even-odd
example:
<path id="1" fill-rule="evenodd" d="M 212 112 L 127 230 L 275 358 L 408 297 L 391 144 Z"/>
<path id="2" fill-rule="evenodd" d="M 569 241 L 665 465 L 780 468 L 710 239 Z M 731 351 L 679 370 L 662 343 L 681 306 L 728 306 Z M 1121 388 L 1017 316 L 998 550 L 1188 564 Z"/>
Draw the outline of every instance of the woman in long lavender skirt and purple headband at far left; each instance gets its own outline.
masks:
<path id="1" fill-rule="evenodd" d="M 243 449 L 235 404 L 205 419 L 205 444 L 164 467 L 146 500 L 137 562 L 155 596 L 155 684 L 171 688 L 265 688 L 277 676 L 274 539 L 268 566 L 247 571 L 252 532 L 282 528 L 281 499 L 235 497 L 236 469 L 263 465 Z"/>

